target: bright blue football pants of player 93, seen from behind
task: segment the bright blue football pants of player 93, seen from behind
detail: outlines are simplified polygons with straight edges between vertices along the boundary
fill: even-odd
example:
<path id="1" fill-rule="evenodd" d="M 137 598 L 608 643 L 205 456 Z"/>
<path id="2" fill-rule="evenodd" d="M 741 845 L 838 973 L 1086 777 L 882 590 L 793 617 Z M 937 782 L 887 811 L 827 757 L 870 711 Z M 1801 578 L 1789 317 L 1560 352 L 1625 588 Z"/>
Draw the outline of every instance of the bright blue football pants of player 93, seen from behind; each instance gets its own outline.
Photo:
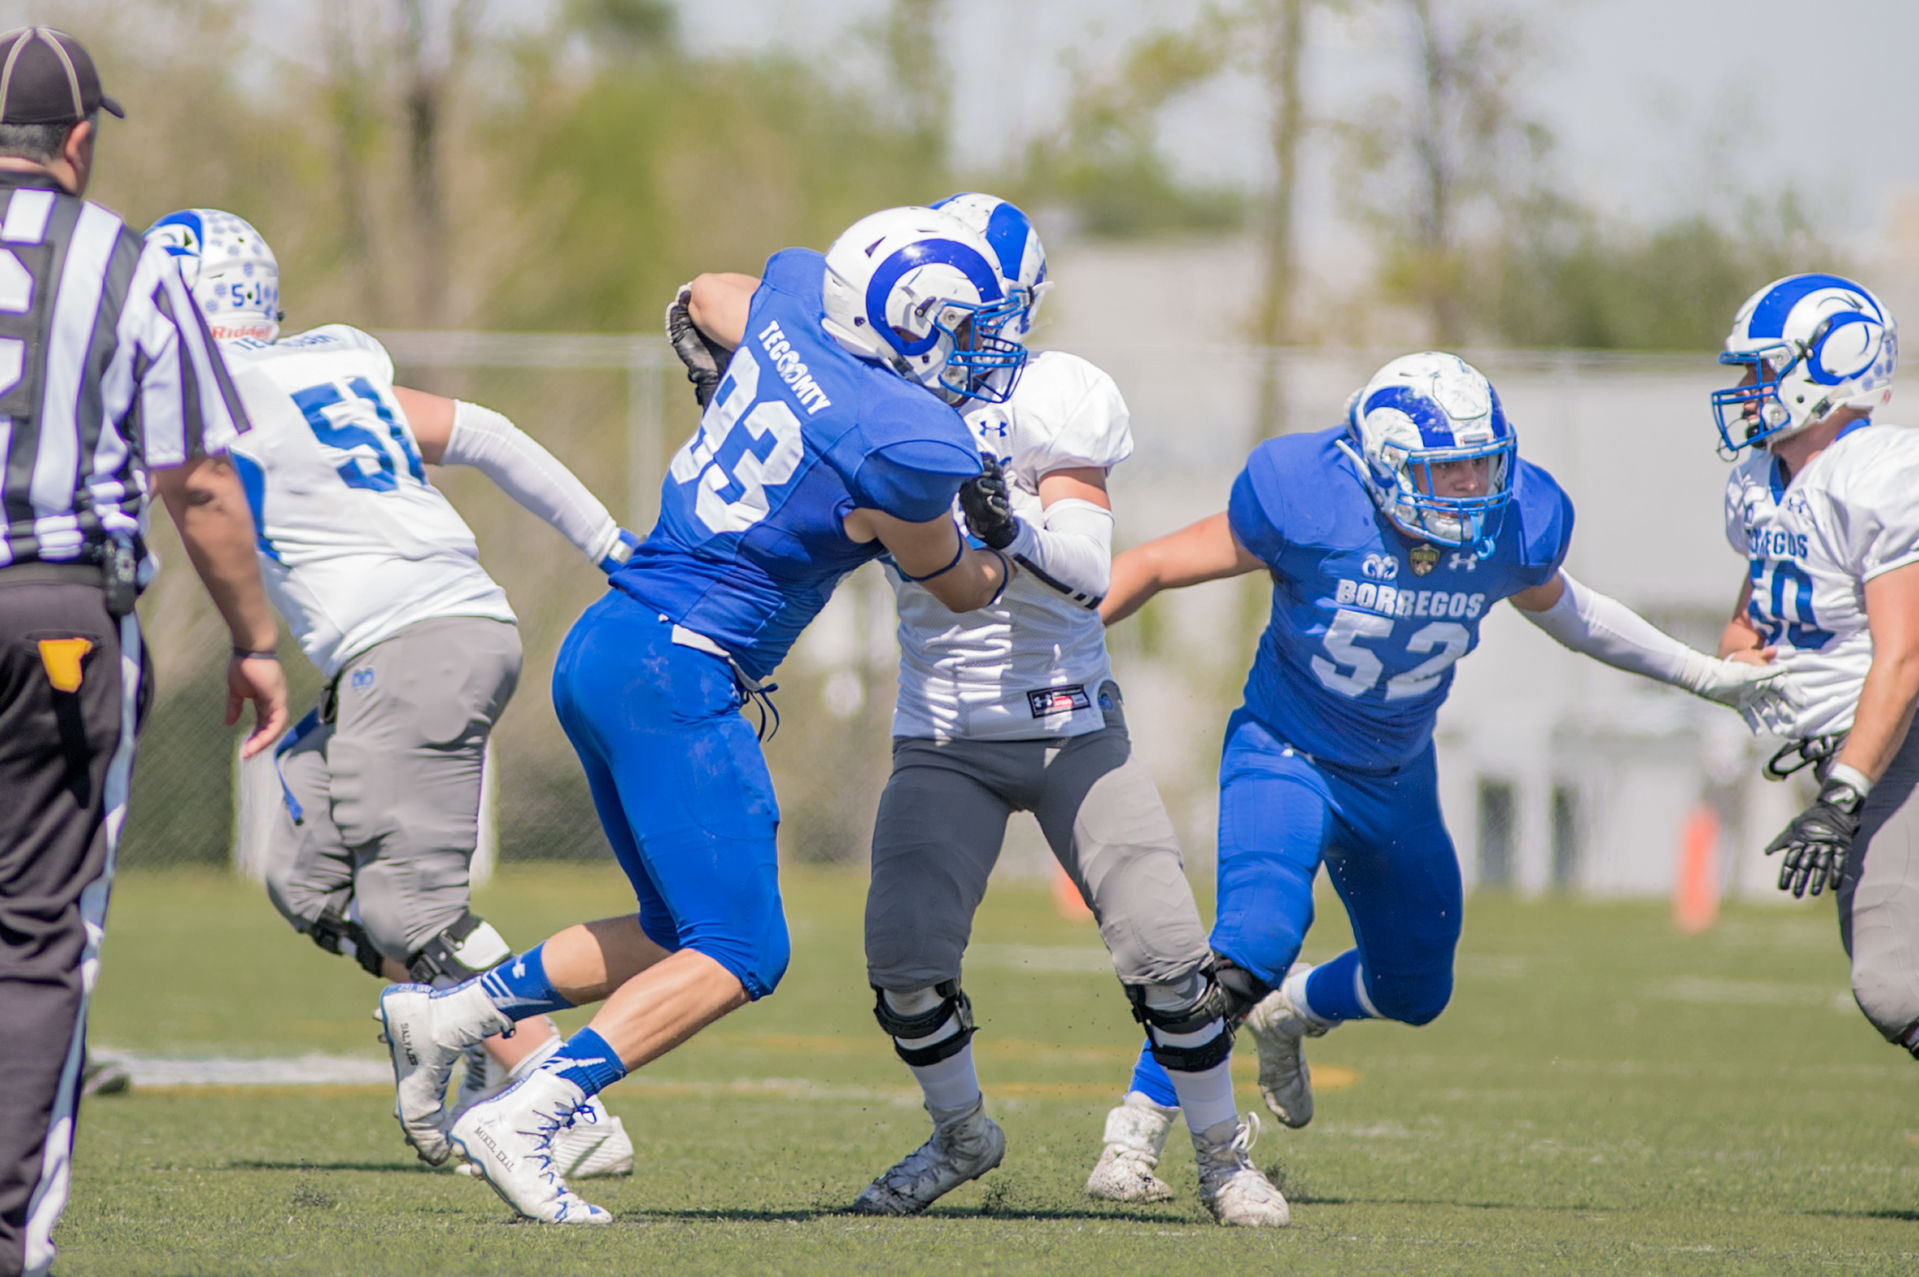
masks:
<path id="1" fill-rule="evenodd" d="M 731 664 L 674 643 L 672 630 L 606 591 L 560 645 L 553 707 L 647 937 L 706 954 L 762 999 L 791 954 L 773 780 Z"/>

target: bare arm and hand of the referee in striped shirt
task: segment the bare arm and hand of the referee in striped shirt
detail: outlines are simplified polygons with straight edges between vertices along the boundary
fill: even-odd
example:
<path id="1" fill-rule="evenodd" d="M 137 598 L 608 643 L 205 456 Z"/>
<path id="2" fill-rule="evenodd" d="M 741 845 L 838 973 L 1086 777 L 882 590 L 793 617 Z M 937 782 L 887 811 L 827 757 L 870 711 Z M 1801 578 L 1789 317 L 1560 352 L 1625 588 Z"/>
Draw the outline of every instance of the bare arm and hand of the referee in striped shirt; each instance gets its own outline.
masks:
<path id="1" fill-rule="evenodd" d="M 286 672 L 271 655 L 280 641 L 272 607 L 259 580 L 253 555 L 253 513 L 240 476 L 225 457 L 198 457 L 180 467 L 154 470 L 154 486 L 167 503 L 173 526 L 207 586 L 232 636 L 226 664 L 226 726 L 240 722 L 240 707 L 253 705 L 253 730 L 240 755 L 251 759 L 286 732 Z"/>

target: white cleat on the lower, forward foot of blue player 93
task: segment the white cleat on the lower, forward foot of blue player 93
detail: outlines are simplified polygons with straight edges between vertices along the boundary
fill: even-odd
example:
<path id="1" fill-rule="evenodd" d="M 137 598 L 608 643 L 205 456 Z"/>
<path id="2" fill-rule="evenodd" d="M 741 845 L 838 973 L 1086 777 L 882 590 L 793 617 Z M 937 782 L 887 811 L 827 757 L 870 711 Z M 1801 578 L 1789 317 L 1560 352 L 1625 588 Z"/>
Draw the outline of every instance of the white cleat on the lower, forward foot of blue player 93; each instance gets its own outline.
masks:
<path id="1" fill-rule="evenodd" d="M 604 1110 L 599 1110 L 604 1112 Z M 447 1137 L 487 1187 L 528 1219 L 612 1223 L 612 1216 L 566 1187 L 555 1137 L 595 1121 L 585 1093 L 549 1070 L 533 1070 L 453 1123 Z"/>

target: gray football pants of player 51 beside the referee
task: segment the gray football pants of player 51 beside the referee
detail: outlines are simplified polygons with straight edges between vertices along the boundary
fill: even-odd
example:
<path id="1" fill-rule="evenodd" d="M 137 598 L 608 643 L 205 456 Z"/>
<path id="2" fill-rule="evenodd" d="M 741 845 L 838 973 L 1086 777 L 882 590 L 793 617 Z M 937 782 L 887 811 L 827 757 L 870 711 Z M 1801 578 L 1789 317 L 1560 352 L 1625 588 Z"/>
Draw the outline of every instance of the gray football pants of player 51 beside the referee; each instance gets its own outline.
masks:
<path id="1" fill-rule="evenodd" d="M 520 682 L 518 628 L 484 616 L 407 626 L 349 661 L 334 720 L 280 759 L 267 895 L 307 931 L 322 912 L 359 924 L 405 964 L 466 914 L 480 841 L 480 762 Z"/>

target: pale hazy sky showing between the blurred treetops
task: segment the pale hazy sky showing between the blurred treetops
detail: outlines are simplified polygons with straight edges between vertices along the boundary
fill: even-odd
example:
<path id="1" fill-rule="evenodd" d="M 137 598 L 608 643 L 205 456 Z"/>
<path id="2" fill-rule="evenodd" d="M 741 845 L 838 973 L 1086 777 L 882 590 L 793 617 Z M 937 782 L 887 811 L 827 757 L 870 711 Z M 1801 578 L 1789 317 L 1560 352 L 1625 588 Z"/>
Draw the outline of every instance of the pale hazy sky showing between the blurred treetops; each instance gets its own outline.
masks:
<path id="1" fill-rule="evenodd" d="M 1913 0 L 1460 0 L 1520 13 L 1539 60 L 1524 102 L 1554 134 L 1562 181 L 1635 221 L 1710 207 L 1731 192 L 1796 184 L 1819 221 L 1856 236 L 1890 192 L 1919 188 L 1919 2 Z M 1439 0 L 1447 4 L 1447 0 Z M 887 0 L 695 0 L 679 6 L 695 50 L 783 46 L 877 77 L 864 33 Z M 986 173 L 1057 123 L 1069 60 L 1109 65 L 1199 0 L 958 0 L 950 21 L 960 154 Z M 1405 75 L 1387 6 L 1318 13 L 1309 33 L 1309 109 L 1351 113 Z M 1268 181 L 1261 98 L 1222 83 L 1167 113 L 1163 140 L 1186 175 Z M 1326 148 L 1311 161 L 1307 234 L 1334 217 Z"/>

